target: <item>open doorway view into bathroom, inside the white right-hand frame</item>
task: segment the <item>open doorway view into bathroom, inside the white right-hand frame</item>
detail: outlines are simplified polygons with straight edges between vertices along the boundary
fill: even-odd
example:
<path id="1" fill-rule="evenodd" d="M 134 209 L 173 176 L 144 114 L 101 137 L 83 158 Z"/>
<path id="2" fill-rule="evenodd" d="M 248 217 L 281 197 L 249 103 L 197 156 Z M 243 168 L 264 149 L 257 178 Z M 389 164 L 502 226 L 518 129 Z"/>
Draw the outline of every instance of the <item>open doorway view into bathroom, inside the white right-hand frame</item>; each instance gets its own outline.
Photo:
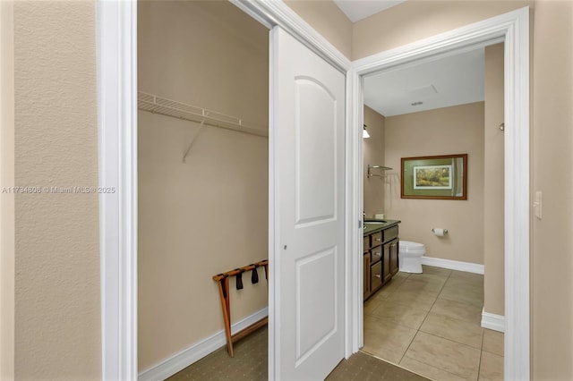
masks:
<path id="1" fill-rule="evenodd" d="M 411 247 L 415 243 L 407 242 L 418 242 L 424 251 L 416 259 L 424 265 L 422 274 L 419 265 L 401 261 L 398 275 L 382 271 L 390 276 L 382 277 L 381 289 L 370 277 L 375 293 L 364 304 L 363 351 L 427 377 L 440 372 L 445 372 L 441 377 L 502 377 L 503 335 L 484 331 L 481 320 L 482 311 L 492 312 L 496 299 L 501 300 L 496 312 L 503 315 L 503 287 L 490 287 L 488 305 L 483 292 L 485 262 L 492 270 L 487 281 L 503 284 L 503 131 L 498 128 L 503 121 L 503 44 L 372 74 L 363 85 L 364 124 L 370 134 L 363 140 L 364 165 L 385 169 L 379 176 L 364 176 L 364 212 L 367 218 L 383 213 L 387 222 L 401 221 L 396 228 L 400 242 Z M 443 157 L 454 154 L 466 155 L 464 174 L 454 170 L 451 158 Z M 401 172 L 401 158 L 436 156 L 441 158 L 424 160 L 433 165 L 439 160 L 439 171 L 446 177 L 428 177 L 423 184 L 441 182 L 434 189 L 420 185 L 419 190 L 408 190 L 420 192 L 416 198 L 402 198 L 411 173 Z M 425 165 L 419 160 L 418 165 Z M 451 184 L 463 177 L 466 198 L 453 199 L 450 195 L 457 188 Z M 440 193 L 449 199 L 439 199 Z M 392 245 L 398 246 L 389 241 L 384 224 L 383 239 L 375 241 L 378 230 L 371 225 L 366 223 L 370 228 L 364 232 L 364 245 L 370 246 L 364 247 L 363 255 L 371 257 L 364 284 L 367 275 L 375 273 L 377 253 L 382 270 L 386 265 L 391 269 Z M 434 235 L 432 230 L 440 227 L 448 233 Z M 492 244 L 492 238 L 498 240 Z M 406 245 L 399 247 L 412 254 Z M 389 263 L 383 260 L 388 254 Z M 497 258 L 500 271 L 495 272 L 492 261 Z"/>

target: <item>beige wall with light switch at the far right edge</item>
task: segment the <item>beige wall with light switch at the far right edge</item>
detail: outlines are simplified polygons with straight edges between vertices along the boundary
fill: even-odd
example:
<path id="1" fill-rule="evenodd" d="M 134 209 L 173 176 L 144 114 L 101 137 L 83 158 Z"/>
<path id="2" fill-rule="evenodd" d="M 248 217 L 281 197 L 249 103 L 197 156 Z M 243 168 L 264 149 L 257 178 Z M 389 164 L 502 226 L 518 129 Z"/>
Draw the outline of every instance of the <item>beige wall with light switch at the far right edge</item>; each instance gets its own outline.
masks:
<path id="1" fill-rule="evenodd" d="M 573 379 L 573 3 L 535 3 L 532 343 L 535 380 Z M 533 198 L 534 193 L 532 193 Z"/>

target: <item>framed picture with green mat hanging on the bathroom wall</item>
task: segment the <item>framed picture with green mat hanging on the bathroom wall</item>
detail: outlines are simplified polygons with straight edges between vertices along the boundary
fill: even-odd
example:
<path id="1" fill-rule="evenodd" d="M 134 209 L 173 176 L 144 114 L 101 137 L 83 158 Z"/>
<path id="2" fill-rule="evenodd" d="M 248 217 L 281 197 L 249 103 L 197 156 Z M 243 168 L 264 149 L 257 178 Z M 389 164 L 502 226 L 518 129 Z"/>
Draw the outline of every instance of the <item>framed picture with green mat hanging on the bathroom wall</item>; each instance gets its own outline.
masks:
<path id="1" fill-rule="evenodd" d="M 467 154 L 402 157 L 402 199 L 467 199 Z"/>

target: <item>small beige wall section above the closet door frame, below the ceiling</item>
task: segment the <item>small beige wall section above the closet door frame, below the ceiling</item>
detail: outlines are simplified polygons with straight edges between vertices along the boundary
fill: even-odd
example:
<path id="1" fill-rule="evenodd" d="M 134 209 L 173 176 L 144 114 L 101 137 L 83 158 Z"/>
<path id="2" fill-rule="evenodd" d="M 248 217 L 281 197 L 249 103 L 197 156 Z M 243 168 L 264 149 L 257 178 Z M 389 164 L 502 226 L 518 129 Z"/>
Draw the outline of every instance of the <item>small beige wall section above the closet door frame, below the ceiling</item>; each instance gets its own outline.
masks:
<path id="1" fill-rule="evenodd" d="M 295 13 L 348 59 L 352 56 L 352 21 L 332 0 L 285 0 Z"/>

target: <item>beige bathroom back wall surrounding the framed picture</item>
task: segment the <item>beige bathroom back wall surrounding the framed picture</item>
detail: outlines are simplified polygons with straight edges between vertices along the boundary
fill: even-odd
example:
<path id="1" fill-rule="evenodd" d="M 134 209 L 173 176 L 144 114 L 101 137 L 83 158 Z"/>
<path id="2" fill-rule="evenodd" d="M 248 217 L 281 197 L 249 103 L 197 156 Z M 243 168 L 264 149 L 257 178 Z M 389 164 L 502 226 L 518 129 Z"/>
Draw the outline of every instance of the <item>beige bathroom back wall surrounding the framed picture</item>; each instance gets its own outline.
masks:
<path id="1" fill-rule="evenodd" d="M 426 257 L 483 264 L 483 102 L 386 118 L 386 215 L 402 221 L 400 239 L 421 242 Z M 467 154 L 467 200 L 401 199 L 401 157 Z M 432 228 L 446 228 L 444 237 Z"/>

